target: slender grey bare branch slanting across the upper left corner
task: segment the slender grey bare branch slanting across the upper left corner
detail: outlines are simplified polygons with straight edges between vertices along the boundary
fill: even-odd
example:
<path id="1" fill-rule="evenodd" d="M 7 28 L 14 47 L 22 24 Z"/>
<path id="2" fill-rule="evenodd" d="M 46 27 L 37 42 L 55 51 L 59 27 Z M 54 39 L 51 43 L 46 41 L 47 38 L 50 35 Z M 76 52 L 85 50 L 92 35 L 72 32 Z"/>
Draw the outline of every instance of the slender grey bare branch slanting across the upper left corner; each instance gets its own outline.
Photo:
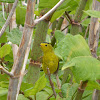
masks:
<path id="1" fill-rule="evenodd" d="M 14 13 L 14 11 L 15 11 L 15 8 L 16 8 L 16 6 L 17 6 L 18 1 L 19 1 L 19 0 L 16 0 L 16 1 L 14 2 L 13 7 L 12 7 L 12 9 L 11 9 L 11 11 L 10 11 L 10 14 L 9 14 L 9 16 L 8 16 L 8 18 L 7 18 L 6 22 L 5 22 L 5 24 L 3 25 L 1 31 L 0 31 L 0 37 L 1 37 L 2 34 L 5 32 L 7 26 L 8 26 L 8 24 L 9 24 L 9 22 L 10 22 L 10 19 L 11 19 L 12 15 L 13 15 L 13 13 Z"/>

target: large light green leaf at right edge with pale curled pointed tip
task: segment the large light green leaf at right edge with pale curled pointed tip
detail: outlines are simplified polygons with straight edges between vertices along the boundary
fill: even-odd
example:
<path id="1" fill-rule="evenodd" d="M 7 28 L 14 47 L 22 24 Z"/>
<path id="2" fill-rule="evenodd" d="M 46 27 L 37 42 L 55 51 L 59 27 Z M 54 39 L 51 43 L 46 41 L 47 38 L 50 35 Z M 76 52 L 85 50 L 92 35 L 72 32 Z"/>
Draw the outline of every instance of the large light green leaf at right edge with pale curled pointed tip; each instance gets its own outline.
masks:
<path id="1" fill-rule="evenodd" d="M 70 66 L 72 64 L 72 66 Z M 62 70 L 68 66 L 71 67 L 72 73 L 77 82 L 96 81 L 100 79 L 100 61 L 91 56 L 80 56 L 73 58 L 69 63 L 66 63 Z"/>

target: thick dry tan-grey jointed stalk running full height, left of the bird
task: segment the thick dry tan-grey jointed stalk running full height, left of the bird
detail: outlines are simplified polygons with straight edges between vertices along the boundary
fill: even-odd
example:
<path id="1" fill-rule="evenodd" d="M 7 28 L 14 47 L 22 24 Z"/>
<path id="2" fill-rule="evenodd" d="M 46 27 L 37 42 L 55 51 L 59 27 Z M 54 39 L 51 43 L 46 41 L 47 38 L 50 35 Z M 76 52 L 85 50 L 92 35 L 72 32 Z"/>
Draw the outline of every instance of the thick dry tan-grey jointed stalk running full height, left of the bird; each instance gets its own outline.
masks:
<path id="1" fill-rule="evenodd" d="M 10 77 L 7 100 L 17 100 L 19 94 L 20 85 L 23 78 L 22 76 L 24 75 L 25 71 L 25 68 L 22 66 L 25 67 L 24 61 L 27 61 L 29 54 L 28 49 L 30 49 L 30 43 L 33 34 L 33 29 L 27 25 L 33 24 L 34 8 L 35 0 L 28 0 L 23 36 L 16 55 L 16 61 L 14 62 L 11 70 L 11 73 L 14 74 L 15 77 Z"/>

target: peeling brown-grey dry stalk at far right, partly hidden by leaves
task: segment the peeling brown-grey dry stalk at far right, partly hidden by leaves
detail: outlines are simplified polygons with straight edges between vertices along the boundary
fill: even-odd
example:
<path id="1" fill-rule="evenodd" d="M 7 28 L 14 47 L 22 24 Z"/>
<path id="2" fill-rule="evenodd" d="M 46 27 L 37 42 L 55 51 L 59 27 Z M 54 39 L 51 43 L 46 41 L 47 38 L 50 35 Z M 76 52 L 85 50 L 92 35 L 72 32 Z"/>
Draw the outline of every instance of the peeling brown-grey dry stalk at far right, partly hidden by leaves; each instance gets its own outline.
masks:
<path id="1" fill-rule="evenodd" d="M 93 10 L 100 11 L 100 2 L 93 0 Z M 90 31 L 89 31 L 89 47 L 93 57 L 97 58 L 97 48 L 99 41 L 100 23 L 98 18 L 91 17 Z M 99 80 L 100 83 L 100 80 Z M 94 90 L 92 100 L 100 100 L 100 90 Z"/>

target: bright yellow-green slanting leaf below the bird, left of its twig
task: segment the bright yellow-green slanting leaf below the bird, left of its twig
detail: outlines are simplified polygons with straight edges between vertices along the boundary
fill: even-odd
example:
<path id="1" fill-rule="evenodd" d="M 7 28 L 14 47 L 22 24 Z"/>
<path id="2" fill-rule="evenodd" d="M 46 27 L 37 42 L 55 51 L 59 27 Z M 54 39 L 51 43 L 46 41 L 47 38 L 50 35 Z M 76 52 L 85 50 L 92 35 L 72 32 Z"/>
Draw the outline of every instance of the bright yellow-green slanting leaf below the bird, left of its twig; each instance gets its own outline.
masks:
<path id="1" fill-rule="evenodd" d="M 47 80 L 45 78 L 45 75 L 41 76 L 39 80 L 37 80 L 37 82 L 35 83 L 34 88 L 30 88 L 25 91 L 25 96 L 35 95 L 37 92 L 41 91 L 46 86 L 46 82 Z"/>

